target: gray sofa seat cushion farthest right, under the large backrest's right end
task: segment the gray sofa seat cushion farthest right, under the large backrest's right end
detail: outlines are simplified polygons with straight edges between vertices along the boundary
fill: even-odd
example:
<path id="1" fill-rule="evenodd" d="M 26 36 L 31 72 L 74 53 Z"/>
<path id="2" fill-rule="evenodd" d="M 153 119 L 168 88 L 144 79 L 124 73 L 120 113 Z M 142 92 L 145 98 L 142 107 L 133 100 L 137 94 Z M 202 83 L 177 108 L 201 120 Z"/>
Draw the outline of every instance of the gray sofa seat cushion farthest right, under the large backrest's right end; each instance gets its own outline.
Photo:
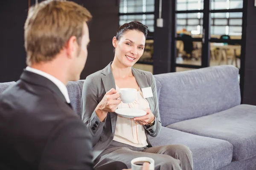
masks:
<path id="1" fill-rule="evenodd" d="M 223 139 L 233 144 L 233 159 L 256 156 L 256 106 L 239 105 L 167 126 L 184 132 Z"/>

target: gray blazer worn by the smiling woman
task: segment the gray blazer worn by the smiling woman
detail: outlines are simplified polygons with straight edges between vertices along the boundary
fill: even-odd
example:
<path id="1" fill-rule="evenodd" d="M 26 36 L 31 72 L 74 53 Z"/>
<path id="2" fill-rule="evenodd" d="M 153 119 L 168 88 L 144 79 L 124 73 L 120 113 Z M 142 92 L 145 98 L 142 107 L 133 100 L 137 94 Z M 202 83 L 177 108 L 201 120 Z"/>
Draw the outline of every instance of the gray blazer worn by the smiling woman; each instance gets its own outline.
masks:
<path id="1" fill-rule="evenodd" d="M 112 62 L 111 62 L 112 63 Z M 111 88 L 116 89 L 115 80 L 111 71 L 111 63 L 104 69 L 89 75 L 85 81 L 82 91 L 82 120 L 89 128 L 93 141 L 93 160 L 111 144 L 116 127 L 116 113 L 108 113 L 105 122 L 101 122 L 95 113 L 95 108 L 102 100 L 103 96 Z M 148 140 L 148 135 L 157 136 L 160 133 L 162 124 L 160 121 L 157 88 L 153 75 L 148 71 L 142 71 L 132 68 L 132 73 L 139 84 L 140 88 L 151 87 L 153 97 L 146 98 L 150 109 L 155 116 L 155 124 L 149 128 L 145 127 L 148 147 L 152 147 Z"/>

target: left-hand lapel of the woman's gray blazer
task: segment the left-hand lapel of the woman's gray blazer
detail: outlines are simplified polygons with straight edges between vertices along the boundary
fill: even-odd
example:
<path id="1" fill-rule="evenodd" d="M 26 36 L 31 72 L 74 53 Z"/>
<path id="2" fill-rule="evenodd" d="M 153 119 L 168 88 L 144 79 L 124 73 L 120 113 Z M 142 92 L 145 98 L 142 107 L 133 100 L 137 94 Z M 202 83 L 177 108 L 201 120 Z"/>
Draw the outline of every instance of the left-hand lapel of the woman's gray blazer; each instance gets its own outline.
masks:
<path id="1" fill-rule="evenodd" d="M 102 70 L 102 74 L 104 74 L 104 76 L 102 76 L 102 82 L 103 82 L 103 86 L 104 86 L 106 93 L 108 91 L 110 91 L 111 88 L 116 89 L 116 83 L 115 83 L 115 79 L 112 74 L 111 64 L 112 64 L 112 62 L 109 63 L 109 65 L 107 65 L 107 67 L 105 67 Z M 110 118 L 111 118 L 112 133 L 114 135 L 114 133 L 115 133 L 114 130 L 116 127 L 116 118 L 117 118 L 116 113 L 115 112 L 110 113 Z"/>

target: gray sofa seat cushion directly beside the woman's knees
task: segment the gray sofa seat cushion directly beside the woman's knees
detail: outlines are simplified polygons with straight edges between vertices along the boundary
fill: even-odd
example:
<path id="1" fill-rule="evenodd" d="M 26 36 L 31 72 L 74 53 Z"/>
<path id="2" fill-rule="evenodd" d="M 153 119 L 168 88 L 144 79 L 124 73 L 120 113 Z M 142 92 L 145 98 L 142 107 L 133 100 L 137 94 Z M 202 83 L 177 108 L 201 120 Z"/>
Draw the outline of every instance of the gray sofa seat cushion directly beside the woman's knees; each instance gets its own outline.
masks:
<path id="1" fill-rule="evenodd" d="M 232 144 L 220 139 L 162 127 L 160 134 L 149 140 L 153 146 L 185 144 L 193 153 L 194 170 L 216 170 L 232 160 Z"/>

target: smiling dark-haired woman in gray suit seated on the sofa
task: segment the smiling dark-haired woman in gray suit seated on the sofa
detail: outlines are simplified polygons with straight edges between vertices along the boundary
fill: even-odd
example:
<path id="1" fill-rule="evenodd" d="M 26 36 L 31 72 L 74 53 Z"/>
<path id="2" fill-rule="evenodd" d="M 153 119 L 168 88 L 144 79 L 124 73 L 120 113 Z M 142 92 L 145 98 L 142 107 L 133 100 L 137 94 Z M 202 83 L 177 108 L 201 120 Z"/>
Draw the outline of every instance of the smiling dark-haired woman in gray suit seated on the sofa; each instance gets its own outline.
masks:
<path id="1" fill-rule="evenodd" d="M 148 139 L 157 136 L 162 127 L 156 83 L 150 72 L 133 68 L 143 55 L 147 33 L 148 28 L 140 22 L 122 25 L 112 40 L 113 62 L 84 81 L 82 119 L 93 136 L 93 150 L 101 150 L 94 157 L 95 168 L 112 161 L 122 161 L 130 168 L 132 159 L 148 156 L 154 159 L 155 170 L 192 170 L 188 147 L 152 147 Z M 119 99 L 118 91 L 123 99 L 124 88 L 135 89 L 134 102 Z M 126 112 L 121 115 L 117 108 Z M 146 114 L 131 117 L 131 110 Z"/>

